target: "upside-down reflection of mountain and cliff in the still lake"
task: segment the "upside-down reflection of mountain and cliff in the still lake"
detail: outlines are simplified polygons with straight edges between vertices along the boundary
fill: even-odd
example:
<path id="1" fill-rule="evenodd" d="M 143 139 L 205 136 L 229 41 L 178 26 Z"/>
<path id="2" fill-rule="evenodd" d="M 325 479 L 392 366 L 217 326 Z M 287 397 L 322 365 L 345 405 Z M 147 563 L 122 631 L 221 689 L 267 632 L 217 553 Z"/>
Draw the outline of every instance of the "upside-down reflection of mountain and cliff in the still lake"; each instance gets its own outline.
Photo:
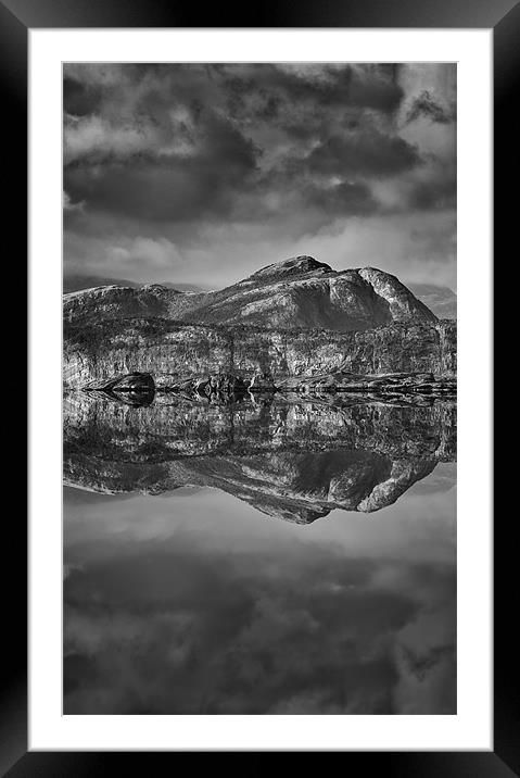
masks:
<path id="1" fill-rule="evenodd" d="M 455 461 L 455 402 L 73 392 L 64 401 L 64 482 L 158 494 L 213 487 L 308 524 L 334 509 L 394 503 Z"/>

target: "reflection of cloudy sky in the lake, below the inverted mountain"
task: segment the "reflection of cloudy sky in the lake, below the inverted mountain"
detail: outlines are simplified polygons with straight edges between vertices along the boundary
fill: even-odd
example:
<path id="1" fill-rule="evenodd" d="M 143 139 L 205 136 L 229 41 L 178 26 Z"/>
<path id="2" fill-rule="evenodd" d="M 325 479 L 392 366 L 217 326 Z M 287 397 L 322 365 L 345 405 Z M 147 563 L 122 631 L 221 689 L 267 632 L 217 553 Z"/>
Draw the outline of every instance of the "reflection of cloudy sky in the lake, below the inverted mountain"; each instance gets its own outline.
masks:
<path id="1" fill-rule="evenodd" d="M 67 501 L 65 713 L 455 713 L 442 467 L 305 528 L 210 489 Z"/>

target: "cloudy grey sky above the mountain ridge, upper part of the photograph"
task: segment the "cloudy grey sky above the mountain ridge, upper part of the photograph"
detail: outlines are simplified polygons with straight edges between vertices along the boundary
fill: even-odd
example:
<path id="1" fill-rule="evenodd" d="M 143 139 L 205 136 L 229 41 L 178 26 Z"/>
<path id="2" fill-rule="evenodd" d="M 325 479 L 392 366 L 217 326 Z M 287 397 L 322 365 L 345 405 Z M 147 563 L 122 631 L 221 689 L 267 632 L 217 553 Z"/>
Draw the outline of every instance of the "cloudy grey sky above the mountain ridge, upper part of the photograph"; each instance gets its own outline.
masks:
<path id="1" fill-rule="evenodd" d="M 67 64 L 64 269 L 456 284 L 456 65 Z"/>

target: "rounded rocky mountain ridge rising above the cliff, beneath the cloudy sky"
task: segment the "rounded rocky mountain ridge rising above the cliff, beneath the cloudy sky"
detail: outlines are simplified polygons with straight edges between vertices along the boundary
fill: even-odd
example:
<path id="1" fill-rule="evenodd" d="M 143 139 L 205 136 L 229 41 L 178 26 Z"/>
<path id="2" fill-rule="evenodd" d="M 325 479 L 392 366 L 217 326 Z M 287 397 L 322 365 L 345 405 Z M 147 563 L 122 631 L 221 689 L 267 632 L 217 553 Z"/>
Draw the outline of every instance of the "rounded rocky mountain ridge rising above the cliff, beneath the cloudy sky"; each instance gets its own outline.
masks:
<path id="1" fill-rule="evenodd" d="M 395 276 L 373 267 L 333 271 L 312 256 L 268 265 L 219 291 L 160 284 L 75 291 L 64 296 L 63 315 L 68 324 L 141 317 L 337 331 L 437 321 Z"/>

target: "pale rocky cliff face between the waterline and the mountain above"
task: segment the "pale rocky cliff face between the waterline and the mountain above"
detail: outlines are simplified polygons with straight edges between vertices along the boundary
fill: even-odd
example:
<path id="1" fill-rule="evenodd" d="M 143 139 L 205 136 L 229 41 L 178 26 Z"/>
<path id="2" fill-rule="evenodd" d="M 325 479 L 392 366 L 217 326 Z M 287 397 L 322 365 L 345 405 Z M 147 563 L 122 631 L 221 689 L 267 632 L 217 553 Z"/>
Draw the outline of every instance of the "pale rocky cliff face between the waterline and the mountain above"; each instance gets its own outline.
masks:
<path id="1" fill-rule="evenodd" d="M 150 373 L 157 386 L 215 373 L 275 381 L 316 374 L 456 372 L 456 323 L 395 323 L 355 332 L 182 324 L 168 319 L 65 323 L 67 387 Z"/>

